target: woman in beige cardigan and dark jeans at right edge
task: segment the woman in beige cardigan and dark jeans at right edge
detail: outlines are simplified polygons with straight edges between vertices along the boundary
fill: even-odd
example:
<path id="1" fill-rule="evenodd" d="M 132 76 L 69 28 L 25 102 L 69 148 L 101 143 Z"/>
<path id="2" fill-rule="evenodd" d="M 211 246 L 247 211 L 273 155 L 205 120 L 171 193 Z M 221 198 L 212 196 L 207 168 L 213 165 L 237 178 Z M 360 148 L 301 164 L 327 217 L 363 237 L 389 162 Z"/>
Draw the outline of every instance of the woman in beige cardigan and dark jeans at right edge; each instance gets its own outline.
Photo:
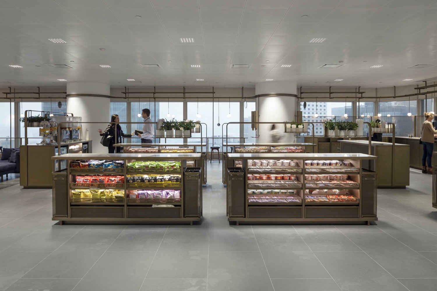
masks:
<path id="1" fill-rule="evenodd" d="M 431 120 L 434 118 L 434 113 L 425 112 L 425 121 L 422 123 L 422 129 L 420 130 L 420 135 L 422 137 L 423 143 L 423 156 L 422 156 L 422 173 L 432 174 L 433 168 L 431 165 L 431 157 L 434 150 L 434 137 L 437 137 L 437 130 L 434 130 Z M 427 165 L 428 163 L 428 170 Z"/>

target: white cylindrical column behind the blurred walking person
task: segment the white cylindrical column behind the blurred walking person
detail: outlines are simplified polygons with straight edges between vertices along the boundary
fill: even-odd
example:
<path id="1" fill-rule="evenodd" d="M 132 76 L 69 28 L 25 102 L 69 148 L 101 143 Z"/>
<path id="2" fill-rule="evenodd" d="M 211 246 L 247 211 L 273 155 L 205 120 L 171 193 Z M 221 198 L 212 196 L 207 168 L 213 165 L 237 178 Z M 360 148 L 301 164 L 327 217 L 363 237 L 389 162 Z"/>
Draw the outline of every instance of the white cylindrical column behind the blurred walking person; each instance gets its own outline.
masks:
<path id="1" fill-rule="evenodd" d="M 296 94 L 296 83 L 290 81 L 261 82 L 255 86 L 255 95 L 260 94 Z M 290 96 L 259 97 L 258 114 L 260 122 L 284 122 L 296 119 L 296 98 Z M 260 124 L 259 143 L 271 142 L 271 124 Z M 283 124 L 275 124 L 276 129 L 283 136 L 281 143 L 295 142 L 295 134 L 285 134 Z"/>

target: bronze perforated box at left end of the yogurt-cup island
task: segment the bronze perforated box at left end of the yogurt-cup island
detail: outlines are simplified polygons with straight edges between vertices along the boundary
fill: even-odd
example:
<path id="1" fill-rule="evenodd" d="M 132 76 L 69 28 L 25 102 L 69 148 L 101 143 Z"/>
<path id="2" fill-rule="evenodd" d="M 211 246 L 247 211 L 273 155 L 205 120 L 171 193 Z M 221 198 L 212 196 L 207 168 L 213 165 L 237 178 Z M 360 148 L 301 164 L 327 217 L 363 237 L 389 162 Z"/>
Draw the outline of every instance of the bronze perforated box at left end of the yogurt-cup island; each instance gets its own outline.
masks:
<path id="1" fill-rule="evenodd" d="M 237 172 L 234 172 L 237 171 Z M 246 179 L 243 168 L 227 168 L 229 217 L 244 217 L 246 207 Z"/>

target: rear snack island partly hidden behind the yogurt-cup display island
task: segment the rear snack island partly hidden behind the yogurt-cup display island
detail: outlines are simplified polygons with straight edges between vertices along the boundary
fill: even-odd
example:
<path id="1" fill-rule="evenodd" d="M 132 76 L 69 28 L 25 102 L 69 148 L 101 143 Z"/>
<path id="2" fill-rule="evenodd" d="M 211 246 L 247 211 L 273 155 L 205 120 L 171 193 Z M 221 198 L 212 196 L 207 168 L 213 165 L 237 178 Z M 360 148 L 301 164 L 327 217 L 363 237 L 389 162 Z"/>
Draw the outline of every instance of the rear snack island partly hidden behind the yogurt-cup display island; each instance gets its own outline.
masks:
<path id="1" fill-rule="evenodd" d="M 232 147 L 234 153 L 238 154 L 285 154 L 285 153 L 305 153 L 312 152 L 314 144 L 301 143 L 301 144 L 223 144 L 223 148 Z M 226 169 L 228 167 L 241 167 L 241 160 L 229 160 L 227 152 L 223 151 L 223 171 L 222 182 L 226 184 Z"/>

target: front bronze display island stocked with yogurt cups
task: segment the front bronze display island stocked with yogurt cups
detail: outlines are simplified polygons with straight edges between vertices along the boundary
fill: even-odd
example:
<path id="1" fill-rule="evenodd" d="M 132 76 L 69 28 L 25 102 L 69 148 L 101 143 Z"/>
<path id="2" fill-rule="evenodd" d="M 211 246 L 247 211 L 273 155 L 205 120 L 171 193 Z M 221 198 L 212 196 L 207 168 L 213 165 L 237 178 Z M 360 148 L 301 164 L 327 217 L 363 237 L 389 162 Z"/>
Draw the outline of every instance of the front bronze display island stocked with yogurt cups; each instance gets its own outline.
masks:
<path id="1" fill-rule="evenodd" d="M 239 223 L 368 223 L 377 177 L 368 154 L 228 154 L 227 215 Z"/>

